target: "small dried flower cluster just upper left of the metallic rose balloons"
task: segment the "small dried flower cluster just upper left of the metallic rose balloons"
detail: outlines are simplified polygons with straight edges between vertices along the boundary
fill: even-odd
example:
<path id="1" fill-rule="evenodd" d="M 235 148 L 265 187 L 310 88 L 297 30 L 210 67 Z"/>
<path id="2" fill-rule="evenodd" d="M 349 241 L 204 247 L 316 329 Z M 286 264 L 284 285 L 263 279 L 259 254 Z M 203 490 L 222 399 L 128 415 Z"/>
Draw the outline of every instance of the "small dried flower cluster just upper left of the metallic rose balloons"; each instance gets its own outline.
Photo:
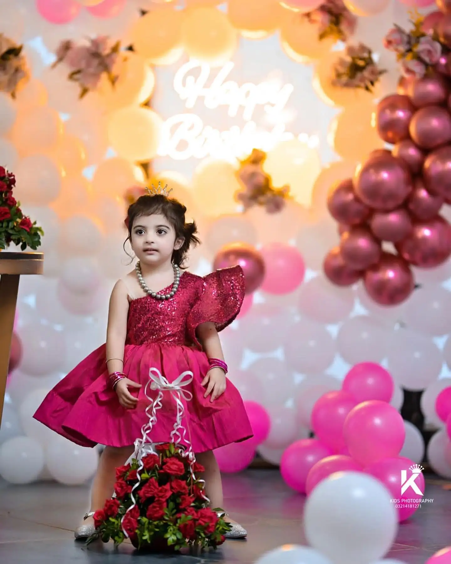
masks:
<path id="1" fill-rule="evenodd" d="M 339 58 L 333 69 L 333 86 L 342 88 L 360 88 L 373 92 L 385 69 L 379 69 L 373 59 L 373 53 L 364 43 L 348 45 L 344 56 Z"/>

